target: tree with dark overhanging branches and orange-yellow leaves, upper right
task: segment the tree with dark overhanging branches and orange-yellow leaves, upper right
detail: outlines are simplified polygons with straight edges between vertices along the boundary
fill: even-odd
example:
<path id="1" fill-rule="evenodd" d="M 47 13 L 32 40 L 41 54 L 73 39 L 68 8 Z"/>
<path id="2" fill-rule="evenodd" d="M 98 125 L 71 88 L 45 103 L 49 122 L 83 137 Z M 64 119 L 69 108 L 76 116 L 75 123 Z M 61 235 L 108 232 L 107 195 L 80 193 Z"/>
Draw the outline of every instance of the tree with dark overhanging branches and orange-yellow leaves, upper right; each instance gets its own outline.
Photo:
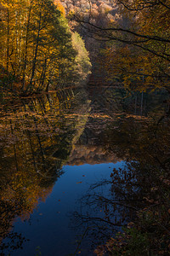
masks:
<path id="1" fill-rule="evenodd" d="M 108 45 L 106 61 L 113 65 L 111 77 L 115 74 L 116 78 L 118 72 L 123 75 L 126 86 L 132 85 L 133 80 L 133 84 L 140 83 L 140 90 L 150 84 L 168 89 L 169 8 L 168 1 L 118 0 L 116 14 L 120 18 L 111 20 L 107 26 L 99 26 L 87 15 L 75 15 L 74 18 L 86 28 L 90 37 Z"/>

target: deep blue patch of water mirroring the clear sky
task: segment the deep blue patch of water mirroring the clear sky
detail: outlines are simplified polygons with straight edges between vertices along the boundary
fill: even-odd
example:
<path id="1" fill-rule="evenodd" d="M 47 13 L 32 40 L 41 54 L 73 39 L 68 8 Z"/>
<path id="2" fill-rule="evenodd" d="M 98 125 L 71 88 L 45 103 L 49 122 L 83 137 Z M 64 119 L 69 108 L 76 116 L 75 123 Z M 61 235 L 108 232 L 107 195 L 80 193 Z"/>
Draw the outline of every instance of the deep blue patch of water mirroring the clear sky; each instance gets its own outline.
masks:
<path id="1" fill-rule="evenodd" d="M 117 163 L 115 166 L 121 165 Z M 65 166 L 65 174 L 54 185 L 45 203 L 38 205 L 30 221 L 23 223 L 19 219 L 14 224 L 14 231 L 21 232 L 30 240 L 26 242 L 23 250 L 17 250 L 14 255 L 34 255 L 37 246 L 41 247 L 42 255 L 76 253 L 76 241 L 81 239 L 82 234 L 71 229 L 71 224 L 74 225 L 71 223 L 71 214 L 80 211 L 81 202 L 78 199 L 87 192 L 89 185 L 103 177 L 110 177 L 113 167 L 114 164 Z M 82 183 L 79 183 L 80 181 Z M 96 189 L 96 192 L 99 192 L 99 189 Z M 99 216 L 96 213 L 94 215 Z M 84 241 L 82 245 L 82 255 L 90 255 L 89 246 Z"/>

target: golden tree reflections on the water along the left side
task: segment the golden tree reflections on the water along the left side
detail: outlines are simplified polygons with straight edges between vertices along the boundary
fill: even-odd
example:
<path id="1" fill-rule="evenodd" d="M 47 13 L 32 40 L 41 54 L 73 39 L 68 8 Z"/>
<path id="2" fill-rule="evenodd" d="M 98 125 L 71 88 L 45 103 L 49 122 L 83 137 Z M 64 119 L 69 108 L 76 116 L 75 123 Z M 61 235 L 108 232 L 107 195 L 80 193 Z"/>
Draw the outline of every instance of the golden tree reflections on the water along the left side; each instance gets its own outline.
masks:
<path id="1" fill-rule="evenodd" d="M 10 103 L 4 106 L 0 127 L 2 238 L 10 238 L 8 231 L 14 218 L 29 218 L 38 202 L 46 200 L 63 173 L 62 166 L 71 153 L 72 143 L 80 136 L 78 123 L 82 131 L 87 119 L 82 121 L 79 112 L 72 117 L 77 106 L 84 112 L 88 107 L 86 99 L 82 101 L 82 95 L 74 93 L 63 90 L 31 101 L 21 100 L 15 106 Z M 80 101 L 82 108 L 78 105 Z"/>

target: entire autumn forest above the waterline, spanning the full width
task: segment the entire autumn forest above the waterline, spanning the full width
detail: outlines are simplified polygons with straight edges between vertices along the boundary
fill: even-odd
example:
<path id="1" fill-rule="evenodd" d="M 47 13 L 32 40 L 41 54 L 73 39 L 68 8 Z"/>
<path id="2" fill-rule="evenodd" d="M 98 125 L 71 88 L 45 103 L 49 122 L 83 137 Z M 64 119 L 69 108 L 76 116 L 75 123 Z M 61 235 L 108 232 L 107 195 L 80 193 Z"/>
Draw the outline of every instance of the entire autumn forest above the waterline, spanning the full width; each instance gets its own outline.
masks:
<path id="1" fill-rule="evenodd" d="M 168 90 L 167 2 L 1 1 L 1 87 L 55 90 L 85 80 L 91 59 L 107 82 Z"/>

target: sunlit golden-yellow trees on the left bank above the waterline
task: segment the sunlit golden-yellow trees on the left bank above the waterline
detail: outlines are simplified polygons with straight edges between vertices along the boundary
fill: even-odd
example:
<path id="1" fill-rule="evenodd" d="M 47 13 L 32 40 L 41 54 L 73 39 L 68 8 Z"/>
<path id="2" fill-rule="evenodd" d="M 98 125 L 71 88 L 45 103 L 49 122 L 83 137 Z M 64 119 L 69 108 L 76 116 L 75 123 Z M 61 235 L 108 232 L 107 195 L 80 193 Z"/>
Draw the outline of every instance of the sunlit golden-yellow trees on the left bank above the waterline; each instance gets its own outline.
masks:
<path id="1" fill-rule="evenodd" d="M 77 48 L 74 39 L 73 45 L 72 38 L 78 37 L 73 33 L 59 2 L 1 1 L 1 84 L 26 94 L 48 91 L 51 84 L 56 89 L 56 84 L 75 80 L 80 73 L 86 77 L 91 65 L 88 52 L 83 42 Z M 85 70 L 77 67 L 82 61 L 77 55 L 83 55 Z"/>

